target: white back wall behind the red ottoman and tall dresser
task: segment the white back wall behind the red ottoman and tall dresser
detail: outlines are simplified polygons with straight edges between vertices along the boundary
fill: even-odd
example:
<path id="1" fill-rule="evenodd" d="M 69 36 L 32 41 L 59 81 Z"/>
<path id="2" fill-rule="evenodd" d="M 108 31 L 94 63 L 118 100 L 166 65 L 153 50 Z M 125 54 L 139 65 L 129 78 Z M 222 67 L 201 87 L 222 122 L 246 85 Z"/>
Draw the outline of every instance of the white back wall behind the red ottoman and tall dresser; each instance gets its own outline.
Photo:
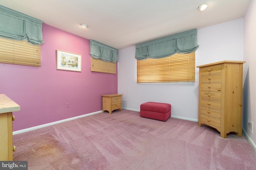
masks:
<path id="1" fill-rule="evenodd" d="M 243 34 L 243 18 L 198 29 L 196 66 L 243 61 Z M 198 121 L 198 75 L 196 68 L 193 84 L 137 84 L 135 46 L 118 50 L 118 93 L 124 94 L 126 109 L 140 111 L 144 102 L 163 102 L 172 105 L 172 117 Z"/>

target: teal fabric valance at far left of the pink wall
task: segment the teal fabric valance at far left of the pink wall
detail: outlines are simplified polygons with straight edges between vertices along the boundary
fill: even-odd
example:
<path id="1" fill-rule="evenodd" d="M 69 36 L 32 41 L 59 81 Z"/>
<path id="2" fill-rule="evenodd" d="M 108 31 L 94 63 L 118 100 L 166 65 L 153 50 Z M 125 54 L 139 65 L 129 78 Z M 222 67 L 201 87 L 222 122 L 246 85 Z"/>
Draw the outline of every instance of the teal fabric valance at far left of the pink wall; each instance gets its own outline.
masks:
<path id="1" fill-rule="evenodd" d="M 44 43 L 41 20 L 0 5 L 0 37 L 24 40 L 33 45 Z"/>

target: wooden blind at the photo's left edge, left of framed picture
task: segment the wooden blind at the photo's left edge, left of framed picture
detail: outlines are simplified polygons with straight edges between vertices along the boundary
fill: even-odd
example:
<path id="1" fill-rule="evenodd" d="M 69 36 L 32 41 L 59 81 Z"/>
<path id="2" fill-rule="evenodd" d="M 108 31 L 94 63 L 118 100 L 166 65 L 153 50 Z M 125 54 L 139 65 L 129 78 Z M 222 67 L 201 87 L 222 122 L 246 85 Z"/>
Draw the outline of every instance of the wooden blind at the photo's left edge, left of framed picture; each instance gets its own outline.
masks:
<path id="1" fill-rule="evenodd" d="M 41 66 L 40 45 L 0 37 L 0 63 Z"/>

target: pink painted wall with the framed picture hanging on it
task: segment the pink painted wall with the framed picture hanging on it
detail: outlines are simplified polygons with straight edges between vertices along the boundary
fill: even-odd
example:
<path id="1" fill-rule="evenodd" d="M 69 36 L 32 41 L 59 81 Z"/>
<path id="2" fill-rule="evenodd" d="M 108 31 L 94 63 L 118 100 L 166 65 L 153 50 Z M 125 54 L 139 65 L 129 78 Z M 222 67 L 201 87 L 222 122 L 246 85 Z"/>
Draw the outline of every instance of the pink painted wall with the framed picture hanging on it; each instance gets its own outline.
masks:
<path id="1" fill-rule="evenodd" d="M 0 94 L 21 108 L 13 131 L 100 111 L 101 95 L 118 92 L 116 74 L 90 71 L 88 39 L 46 24 L 42 31 L 41 67 L 0 63 Z M 57 49 L 81 54 L 82 72 L 56 70 Z"/>

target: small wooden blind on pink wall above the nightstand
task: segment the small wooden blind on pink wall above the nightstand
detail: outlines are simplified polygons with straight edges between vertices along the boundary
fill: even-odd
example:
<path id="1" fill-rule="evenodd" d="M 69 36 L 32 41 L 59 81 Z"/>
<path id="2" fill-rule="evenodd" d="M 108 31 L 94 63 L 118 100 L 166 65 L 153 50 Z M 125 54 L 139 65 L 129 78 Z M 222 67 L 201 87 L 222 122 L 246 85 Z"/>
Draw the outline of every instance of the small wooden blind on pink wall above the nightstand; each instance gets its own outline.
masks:
<path id="1" fill-rule="evenodd" d="M 105 62 L 91 57 L 91 71 L 116 74 L 116 63 Z"/>

